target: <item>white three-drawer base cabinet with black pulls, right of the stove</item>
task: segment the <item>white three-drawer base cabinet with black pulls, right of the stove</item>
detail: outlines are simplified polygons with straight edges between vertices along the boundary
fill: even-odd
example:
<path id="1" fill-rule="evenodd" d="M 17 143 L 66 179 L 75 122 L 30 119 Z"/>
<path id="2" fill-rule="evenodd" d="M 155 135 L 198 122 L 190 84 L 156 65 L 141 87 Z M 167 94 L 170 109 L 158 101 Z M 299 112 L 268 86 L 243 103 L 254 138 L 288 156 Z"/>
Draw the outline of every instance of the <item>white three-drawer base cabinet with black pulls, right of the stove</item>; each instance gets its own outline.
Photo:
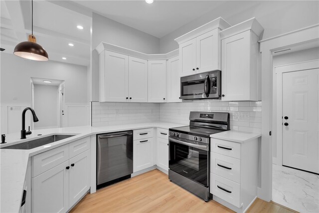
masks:
<path id="1" fill-rule="evenodd" d="M 257 197 L 257 140 L 211 138 L 210 193 L 235 212 L 246 212 Z"/>

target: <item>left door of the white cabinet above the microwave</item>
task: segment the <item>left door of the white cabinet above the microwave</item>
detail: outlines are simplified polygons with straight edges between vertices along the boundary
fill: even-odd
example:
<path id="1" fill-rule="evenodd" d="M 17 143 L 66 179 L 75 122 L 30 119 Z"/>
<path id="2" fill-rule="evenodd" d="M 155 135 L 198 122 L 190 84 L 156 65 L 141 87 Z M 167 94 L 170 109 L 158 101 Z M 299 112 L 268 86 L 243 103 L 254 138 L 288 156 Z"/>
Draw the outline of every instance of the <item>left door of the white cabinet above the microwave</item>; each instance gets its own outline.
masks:
<path id="1" fill-rule="evenodd" d="M 180 76 L 196 73 L 196 38 L 179 45 Z"/>

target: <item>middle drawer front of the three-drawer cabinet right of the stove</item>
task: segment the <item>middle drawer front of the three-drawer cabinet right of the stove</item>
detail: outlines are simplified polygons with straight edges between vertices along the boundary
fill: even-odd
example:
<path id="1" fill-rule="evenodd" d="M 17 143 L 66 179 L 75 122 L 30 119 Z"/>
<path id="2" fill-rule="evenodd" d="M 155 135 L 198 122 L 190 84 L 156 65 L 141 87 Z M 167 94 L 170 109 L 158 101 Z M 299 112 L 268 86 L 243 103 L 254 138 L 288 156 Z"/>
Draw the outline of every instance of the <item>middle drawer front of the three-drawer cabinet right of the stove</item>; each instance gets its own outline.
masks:
<path id="1" fill-rule="evenodd" d="M 240 160 L 210 152 L 210 172 L 240 183 Z"/>

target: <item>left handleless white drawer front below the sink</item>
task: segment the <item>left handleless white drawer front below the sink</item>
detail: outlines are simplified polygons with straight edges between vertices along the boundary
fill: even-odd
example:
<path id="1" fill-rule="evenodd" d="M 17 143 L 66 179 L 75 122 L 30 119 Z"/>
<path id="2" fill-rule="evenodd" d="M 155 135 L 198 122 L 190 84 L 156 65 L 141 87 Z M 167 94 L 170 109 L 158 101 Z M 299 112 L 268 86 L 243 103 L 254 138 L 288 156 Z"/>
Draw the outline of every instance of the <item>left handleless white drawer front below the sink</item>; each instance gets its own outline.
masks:
<path id="1" fill-rule="evenodd" d="M 32 178 L 69 160 L 69 145 L 57 147 L 32 157 Z"/>

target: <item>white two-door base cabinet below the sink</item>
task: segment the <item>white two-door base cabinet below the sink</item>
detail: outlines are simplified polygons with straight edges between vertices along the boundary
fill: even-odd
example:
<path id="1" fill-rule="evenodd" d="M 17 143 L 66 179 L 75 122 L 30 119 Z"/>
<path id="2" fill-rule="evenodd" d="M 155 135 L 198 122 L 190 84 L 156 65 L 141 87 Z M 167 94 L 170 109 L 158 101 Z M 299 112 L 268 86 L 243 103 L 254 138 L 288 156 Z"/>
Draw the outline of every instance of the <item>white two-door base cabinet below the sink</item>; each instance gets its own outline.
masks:
<path id="1" fill-rule="evenodd" d="M 89 140 L 89 137 L 86 139 Z M 69 146 L 74 147 L 83 144 L 86 139 L 64 145 L 62 149 L 58 147 L 33 156 L 32 167 L 40 167 L 41 164 L 37 164 L 37 162 L 50 162 L 50 159 L 56 162 L 57 155 L 64 158 L 62 154 L 69 153 Z M 32 178 L 32 212 L 67 212 L 87 193 L 90 189 L 90 147 L 81 147 L 84 149 L 82 153 L 73 158 L 68 158 L 63 163 L 54 165 Z M 62 150 L 63 152 L 61 152 Z M 33 171 L 40 171 L 40 169 L 33 168 Z"/>

